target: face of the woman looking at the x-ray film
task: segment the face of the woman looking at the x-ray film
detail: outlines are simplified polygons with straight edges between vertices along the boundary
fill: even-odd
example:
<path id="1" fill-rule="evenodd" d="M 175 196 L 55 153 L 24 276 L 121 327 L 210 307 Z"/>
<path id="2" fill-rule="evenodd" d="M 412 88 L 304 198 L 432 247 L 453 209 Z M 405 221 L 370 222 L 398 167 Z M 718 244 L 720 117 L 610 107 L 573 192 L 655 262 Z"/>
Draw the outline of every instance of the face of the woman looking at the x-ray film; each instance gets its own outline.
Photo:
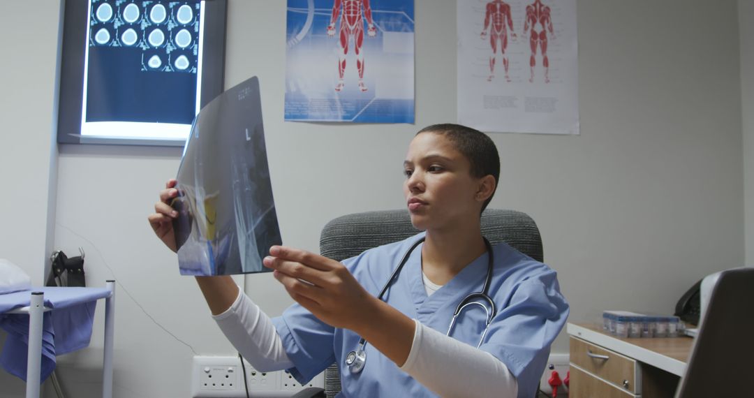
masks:
<path id="1" fill-rule="evenodd" d="M 445 136 L 431 131 L 415 136 L 403 162 L 403 194 L 412 224 L 421 230 L 445 230 L 478 221 L 480 179 Z"/>

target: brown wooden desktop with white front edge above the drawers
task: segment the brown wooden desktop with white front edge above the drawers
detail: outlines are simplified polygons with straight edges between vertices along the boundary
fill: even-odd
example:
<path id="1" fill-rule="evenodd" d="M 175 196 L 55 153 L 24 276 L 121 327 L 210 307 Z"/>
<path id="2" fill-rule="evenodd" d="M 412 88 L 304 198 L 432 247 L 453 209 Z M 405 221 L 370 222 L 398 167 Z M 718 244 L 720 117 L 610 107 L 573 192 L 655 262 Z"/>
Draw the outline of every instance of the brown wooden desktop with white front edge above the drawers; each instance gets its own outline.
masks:
<path id="1" fill-rule="evenodd" d="M 618 354 L 639 360 L 651 366 L 683 375 L 686 360 L 694 339 L 686 336 L 676 338 L 618 338 L 602 332 L 602 326 L 569 323 L 568 334 L 582 338 Z"/>

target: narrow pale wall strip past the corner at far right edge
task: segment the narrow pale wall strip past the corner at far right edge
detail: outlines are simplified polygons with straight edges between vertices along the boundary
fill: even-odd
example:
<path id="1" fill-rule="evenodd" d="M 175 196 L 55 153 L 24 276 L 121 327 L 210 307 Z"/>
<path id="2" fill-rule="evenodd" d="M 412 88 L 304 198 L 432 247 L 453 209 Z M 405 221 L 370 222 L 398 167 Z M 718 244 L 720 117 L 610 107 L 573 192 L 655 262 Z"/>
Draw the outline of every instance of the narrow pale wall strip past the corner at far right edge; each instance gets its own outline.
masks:
<path id="1" fill-rule="evenodd" d="M 746 265 L 754 265 L 754 2 L 738 0 L 743 127 L 743 219 Z"/>

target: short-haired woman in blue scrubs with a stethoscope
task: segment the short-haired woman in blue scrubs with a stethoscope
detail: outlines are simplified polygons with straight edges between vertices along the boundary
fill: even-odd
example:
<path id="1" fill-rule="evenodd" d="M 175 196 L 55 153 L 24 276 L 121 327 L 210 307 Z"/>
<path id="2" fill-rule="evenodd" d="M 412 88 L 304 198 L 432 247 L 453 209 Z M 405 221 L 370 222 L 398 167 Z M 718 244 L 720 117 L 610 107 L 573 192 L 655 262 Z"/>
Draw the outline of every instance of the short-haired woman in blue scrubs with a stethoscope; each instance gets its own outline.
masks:
<path id="1" fill-rule="evenodd" d="M 342 263 L 272 246 L 263 262 L 297 303 L 274 319 L 231 277 L 196 277 L 213 318 L 257 370 L 288 369 L 305 384 L 338 363 L 342 396 L 535 396 L 569 306 L 555 271 L 482 236 L 500 170 L 494 142 L 429 126 L 403 170 L 423 232 Z M 175 184 L 149 216 L 173 251 Z"/>

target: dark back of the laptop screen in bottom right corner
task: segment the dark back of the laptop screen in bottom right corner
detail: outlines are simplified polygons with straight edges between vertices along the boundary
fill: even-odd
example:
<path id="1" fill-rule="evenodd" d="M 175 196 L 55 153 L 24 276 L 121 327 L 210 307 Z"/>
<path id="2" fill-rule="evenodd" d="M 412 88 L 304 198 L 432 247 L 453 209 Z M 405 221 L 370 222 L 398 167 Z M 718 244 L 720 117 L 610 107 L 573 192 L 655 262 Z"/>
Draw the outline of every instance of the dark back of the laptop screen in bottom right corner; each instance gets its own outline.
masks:
<path id="1" fill-rule="evenodd" d="M 754 268 L 722 271 L 676 397 L 751 396 Z"/>

